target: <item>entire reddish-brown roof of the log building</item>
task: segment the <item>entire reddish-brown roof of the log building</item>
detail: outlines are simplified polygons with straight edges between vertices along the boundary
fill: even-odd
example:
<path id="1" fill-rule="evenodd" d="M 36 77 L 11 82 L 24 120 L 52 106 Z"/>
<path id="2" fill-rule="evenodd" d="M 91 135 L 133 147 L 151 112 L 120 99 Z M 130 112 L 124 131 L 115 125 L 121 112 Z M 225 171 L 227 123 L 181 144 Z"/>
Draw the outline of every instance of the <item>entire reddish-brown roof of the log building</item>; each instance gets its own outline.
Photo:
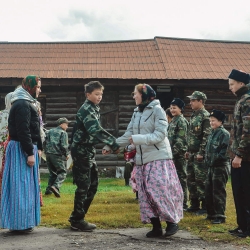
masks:
<path id="1" fill-rule="evenodd" d="M 227 79 L 249 72 L 250 42 L 155 37 L 112 42 L 0 43 L 0 77 Z"/>

